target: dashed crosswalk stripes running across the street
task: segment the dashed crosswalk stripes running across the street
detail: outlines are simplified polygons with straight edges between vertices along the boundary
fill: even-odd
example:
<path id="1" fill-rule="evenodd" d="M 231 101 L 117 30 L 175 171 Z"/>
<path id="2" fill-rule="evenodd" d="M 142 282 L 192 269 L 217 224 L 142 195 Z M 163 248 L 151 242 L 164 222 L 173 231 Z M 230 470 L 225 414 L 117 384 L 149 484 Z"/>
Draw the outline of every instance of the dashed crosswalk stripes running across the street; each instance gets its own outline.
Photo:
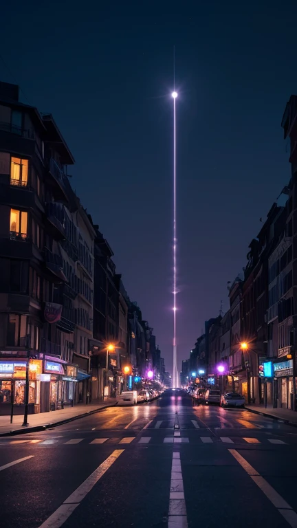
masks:
<path id="1" fill-rule="evenodd" d="M 173 435 L 168 435 L 164 438 L 159 437 L 123 437 L 123 438 L 115 438 L 115 437 L 107 437 L 107 438 L 94 438 L 92 440 L 86 439 L 86 438 L 73 438 L 69 439 L 67 441 L 63 441 L 62 438 L 59 439 L 25 439 L 25 440 L 10 440 L 10 441 L 0 441 L 0 447 L 1 445 L 30 445 L 30 444 L 36 444 L 38 446 L 43 445 L 78 445 L 80 443 L 88 443 L 89 445 L 102 445 L 102 444 L 126 444 L 129 445 L 131 443 L 139 443 L 139 444 L 160 444 L 160 443 L 190 443 L 190 444 L 201 444 L 201 445 L 207 445 L 207 444 L 214 444 L 214 443 L 222 443 L 222 444 L 251 444 L 251 445 L 259 445 L 259 444 L 272 444 L 272 445 L 289 445 L 288 442 L 285 442 L 281 439 L 276 438 L 263 438 L 259 440 L 258 438 L 254 437 L 206 437 L 206 436 L 199 436 L 199 437 L 182 437 L 180 432 L 174 432 Z"/>

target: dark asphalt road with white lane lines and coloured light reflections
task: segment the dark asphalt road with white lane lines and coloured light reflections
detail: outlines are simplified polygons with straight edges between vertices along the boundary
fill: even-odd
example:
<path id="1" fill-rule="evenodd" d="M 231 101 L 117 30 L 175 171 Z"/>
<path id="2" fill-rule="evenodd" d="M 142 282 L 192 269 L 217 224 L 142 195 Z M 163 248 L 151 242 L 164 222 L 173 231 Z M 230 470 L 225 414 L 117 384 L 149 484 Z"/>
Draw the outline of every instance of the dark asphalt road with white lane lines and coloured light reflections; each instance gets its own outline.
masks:
<path id="1" fill-rule="evenodd" d="M 297 527 L 297 428 L 180 391 L 0 439 L 10 528 Z"/>

